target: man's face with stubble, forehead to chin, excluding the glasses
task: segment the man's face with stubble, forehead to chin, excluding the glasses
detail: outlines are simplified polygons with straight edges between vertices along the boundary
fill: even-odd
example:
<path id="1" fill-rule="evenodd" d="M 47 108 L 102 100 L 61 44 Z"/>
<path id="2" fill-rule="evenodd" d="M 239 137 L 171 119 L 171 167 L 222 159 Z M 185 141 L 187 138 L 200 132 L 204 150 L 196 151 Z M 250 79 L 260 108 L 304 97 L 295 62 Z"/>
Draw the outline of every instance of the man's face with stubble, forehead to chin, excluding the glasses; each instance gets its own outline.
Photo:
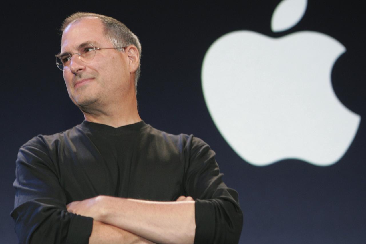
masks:
<path id="1" fill-rule="evenodd" d="M 97 18 L 85 18 L 67 26 L 61 40 L 61 53 L 77 53 L 83 44 L 97 48 L 112 48 L 104 37 L 103 24 Z M 81 108 L 100 107 L 122 99 L 131 91 L 128 56 L 117 49 L 97 50 L 91 62 L 72 55 L 64 67 L 64 80 L 71 100 Z"/>

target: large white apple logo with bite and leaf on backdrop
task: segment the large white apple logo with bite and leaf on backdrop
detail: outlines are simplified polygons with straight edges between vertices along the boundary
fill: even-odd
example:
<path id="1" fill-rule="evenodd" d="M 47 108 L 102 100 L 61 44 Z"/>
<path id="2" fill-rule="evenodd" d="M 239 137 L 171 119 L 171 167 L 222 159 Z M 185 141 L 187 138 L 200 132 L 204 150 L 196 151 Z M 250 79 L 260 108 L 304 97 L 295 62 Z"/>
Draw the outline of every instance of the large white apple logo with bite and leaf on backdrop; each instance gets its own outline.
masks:
<path id="1" fill-rule="evenodd" d="M 281 1 L 272 30 L 294 26 L 306 5 Z M 311 31 L 272 38 L 240 30 L 220 37 L 203 60 L 202 89 L 221 135 L 255 166 L 283 159 L 336 163 L 361 120 L 340 103 L 330 80 L 345 51 L 334 38 Z"/>

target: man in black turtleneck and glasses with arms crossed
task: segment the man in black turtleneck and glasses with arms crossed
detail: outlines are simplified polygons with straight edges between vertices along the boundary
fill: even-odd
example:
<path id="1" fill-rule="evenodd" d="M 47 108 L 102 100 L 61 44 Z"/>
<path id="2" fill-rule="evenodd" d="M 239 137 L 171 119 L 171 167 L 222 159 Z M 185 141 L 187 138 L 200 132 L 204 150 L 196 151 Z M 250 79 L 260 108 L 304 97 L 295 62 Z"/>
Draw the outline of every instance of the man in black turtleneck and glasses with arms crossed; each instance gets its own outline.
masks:
<path id="1" fill-rule="evenodd" d="M 238 243 L 242 211 L 202 140 L 139 117 L 141 45 L 113 18 L 64 21 L 57 66 L 85 121 L 23 145 L 20 243 Z"/>

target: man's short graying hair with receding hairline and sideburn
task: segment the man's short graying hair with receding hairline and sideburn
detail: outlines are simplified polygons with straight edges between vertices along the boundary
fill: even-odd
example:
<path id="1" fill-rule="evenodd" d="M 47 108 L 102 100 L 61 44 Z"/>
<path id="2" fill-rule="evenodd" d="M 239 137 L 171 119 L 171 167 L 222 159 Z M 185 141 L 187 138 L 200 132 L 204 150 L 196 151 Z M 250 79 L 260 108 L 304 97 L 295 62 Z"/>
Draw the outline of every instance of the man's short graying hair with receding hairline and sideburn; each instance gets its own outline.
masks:
<path id="1" fill-rule="evenodd" d="M 66 27 L 70 23 L 78 21 L 86 17 L 97 17 L 104 25 L 104 35 L 112 42 L 113 47 L 127 47 L 128 45 L 134 45 L 139 52 L 139 59 L 141 60 L 141 44 L 138 37 L 131 32 L 122 22 L 117 21 L 112 17 L 108 17 L 101 14 L 94 14 L 89 12 L 76 12 L 68 16 L 61 25 L 61 32 L 64 32 Z M 135 88 L 137 88 L 137 81 L 140 77 L 141 64 L 139 64 L 135 72 Z"/>

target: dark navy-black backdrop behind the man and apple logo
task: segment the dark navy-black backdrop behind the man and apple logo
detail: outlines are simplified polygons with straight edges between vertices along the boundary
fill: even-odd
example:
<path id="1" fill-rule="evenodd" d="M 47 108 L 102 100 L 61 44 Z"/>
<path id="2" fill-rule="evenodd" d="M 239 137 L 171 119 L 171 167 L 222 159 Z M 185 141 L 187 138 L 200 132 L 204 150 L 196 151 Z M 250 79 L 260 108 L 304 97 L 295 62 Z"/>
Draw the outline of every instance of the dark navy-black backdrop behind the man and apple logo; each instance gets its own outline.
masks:
<path id="1" fill-rule="evenodd" d="M 60 50 L 60 24 L 76 11 L 112 16 L 137 34 L 142 44 L 141 118 L 170 133 L 194 134 L 217 152 L 224 181 L 239 192 L 244 212 L 240 243 L 365 243 L 363 1 L 310 0 L 295 27 L 273 33 L 270 21 L 279 2 L 2 4 L 0 243 L 17 240 L 9 213 L 19 147 L 37 134 L 53 134 L 83 121 L 54 59 Z M 333 67 L 332 84 L 339 100 L 361 115 L 361 123 L 339 162 L 317 167 L 300 160 L 282 160 L 256 167 L 236 155 L 221 137 L 202 95 L 202 60 L 217 38 L 244 29 L 271 37 L 311 30 L 334 37 L 346 47 Z M 223 83 L 230 85 L 230 81 Z"/>

